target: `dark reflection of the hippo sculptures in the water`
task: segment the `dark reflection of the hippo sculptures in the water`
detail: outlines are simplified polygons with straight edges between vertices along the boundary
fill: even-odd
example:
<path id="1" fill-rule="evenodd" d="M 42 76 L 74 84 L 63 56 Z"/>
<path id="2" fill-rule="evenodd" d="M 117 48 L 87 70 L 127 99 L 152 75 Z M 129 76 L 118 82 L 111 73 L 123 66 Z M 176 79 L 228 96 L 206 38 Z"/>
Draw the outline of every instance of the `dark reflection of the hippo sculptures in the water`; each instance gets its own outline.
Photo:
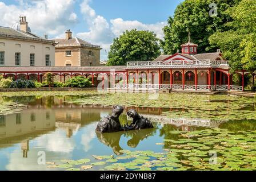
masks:
<path id="1" fill-rule="evenodd" d="M 127 142 L 127 146 L 135 148 L 138 146 L 139 142 L 142 140 L 153 136 L 155 134 L 156 129 L 145 129 L 145 130 L 131 130 L 127 132 L 117 132 L 117 133 L 98 133 L 97 137 L 99 141 L 106 146 L 112 148 L 113 152 L 116 155 L 122 155 L 123 153 L 120 152 L 123 148 L 119 145 L 119 141 L 122 135 L 126 138 L 131 138 Z"/>

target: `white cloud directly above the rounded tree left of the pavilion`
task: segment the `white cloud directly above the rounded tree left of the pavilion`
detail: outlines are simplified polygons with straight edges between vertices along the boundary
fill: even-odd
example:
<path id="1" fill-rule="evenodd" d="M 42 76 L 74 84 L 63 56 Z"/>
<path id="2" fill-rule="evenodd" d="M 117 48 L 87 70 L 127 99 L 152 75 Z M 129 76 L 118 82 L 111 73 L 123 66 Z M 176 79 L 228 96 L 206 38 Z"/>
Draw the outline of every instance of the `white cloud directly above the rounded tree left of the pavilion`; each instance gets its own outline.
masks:
<path id="1" fill-rule="evenodd" d="M 106 51 L 109 51 L 113 39 L 126 30 L 137 28 L 137 30 L 154 31 L 158 38 L 163 38 L 162 28 L 167 22 L 144 24 L 137 20 L 123 20 L 122 18 L 117 18 L 111 19 L 109 23 L 103 16 L 97 15 L 95 10 L 90 7 L 90 2 L 91 0 L 84 0 L 80 5 L 81 13 L 84 15 L 86 23 L 90 26 L 89 31 L 79 32 L 77 36 L 101 46 L 103 48 L 101 59 L 107 59 Z"/>

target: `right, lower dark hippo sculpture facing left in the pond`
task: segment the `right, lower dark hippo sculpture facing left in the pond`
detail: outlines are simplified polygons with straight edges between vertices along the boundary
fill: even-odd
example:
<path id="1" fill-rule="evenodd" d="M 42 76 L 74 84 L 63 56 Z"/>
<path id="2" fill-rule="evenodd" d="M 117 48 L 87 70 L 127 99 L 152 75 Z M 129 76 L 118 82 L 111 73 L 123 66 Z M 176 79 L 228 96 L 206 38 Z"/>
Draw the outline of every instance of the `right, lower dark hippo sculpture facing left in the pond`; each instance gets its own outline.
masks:
<path id="1" fill-rule="evenodd" d="M 142 130 L 142 129 L 152 129 L 154 126 L 147 118 L 139 115 L 136 110 L 131 109 L 127 112 L 127 115 L 133 118 L 131 125 L 127 125 L 128 130 Z"/>

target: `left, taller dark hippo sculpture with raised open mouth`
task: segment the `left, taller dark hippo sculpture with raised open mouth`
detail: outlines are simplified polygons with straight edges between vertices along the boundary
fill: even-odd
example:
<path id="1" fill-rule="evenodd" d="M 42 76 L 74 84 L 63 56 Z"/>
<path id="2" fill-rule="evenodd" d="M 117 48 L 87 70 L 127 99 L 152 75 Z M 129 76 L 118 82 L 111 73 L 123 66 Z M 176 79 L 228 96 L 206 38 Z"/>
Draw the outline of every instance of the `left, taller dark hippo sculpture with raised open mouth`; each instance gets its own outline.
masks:
<path id="1" fill-rule="evenodd" d="M 123 113 L 124 109 L 123 106 L 114 106 L 112 113 L 98 123 L 96 131 L 100 133 L 124 131 L 125 129 L 119 121 L 119 116 Z"/>

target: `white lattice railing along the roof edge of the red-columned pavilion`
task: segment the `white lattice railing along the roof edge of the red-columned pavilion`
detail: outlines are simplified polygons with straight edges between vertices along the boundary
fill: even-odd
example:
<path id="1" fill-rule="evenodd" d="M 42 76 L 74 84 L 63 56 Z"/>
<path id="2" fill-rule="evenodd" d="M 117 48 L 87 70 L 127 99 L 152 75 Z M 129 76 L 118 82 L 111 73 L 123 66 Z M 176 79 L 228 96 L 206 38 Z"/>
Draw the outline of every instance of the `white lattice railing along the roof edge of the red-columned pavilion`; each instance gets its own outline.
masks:
<path id="1" fill-rule="evenodd" d="M 181 67 L 181 66 L 209 66 L 219 67 L 221 64 L 228 64 L 223 60 L 166 60 L 166 61 L 133 61 L 128 62 L 127 67 Z"/>

